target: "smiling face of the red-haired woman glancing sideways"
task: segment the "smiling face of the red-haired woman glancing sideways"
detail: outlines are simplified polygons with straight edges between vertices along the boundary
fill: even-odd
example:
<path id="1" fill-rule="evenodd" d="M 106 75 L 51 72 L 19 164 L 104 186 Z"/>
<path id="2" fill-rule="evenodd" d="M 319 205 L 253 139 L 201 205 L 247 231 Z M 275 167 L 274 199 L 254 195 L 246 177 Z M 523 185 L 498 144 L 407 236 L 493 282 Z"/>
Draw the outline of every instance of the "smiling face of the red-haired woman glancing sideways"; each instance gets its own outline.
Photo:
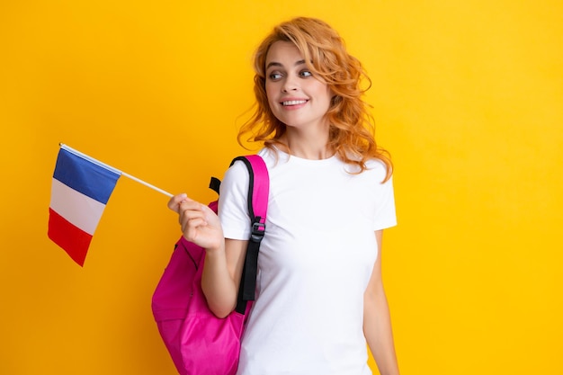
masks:
<path id="1" fill-rule="evenodd" d="M 279 121 L 292 128 L 328 129 L 325 115 L 330 89 L 312 75 L 293 43 L 273 43 L 266 55 L 265 73 L 268 103 Z"/>

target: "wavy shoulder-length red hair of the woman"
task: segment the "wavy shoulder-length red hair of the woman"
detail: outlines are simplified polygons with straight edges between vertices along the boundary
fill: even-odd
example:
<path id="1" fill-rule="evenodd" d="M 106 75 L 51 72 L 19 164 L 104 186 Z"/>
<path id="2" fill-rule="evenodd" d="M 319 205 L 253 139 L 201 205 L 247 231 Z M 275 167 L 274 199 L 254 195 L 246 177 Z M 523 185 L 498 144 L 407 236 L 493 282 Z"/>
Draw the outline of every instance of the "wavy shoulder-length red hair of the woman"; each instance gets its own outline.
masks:
<path id="1" fill-rule="evenodd" d="M 265 147 L 287 148 L 280 138 L 286 125 L 279 121 L 270 109 L 265 91 L 265 63 L 268 50 L 276 41 L 290 41 L 301 53 L 313 76 L 323 81 L 334 93 L 326 112 L 329 121 L 328 147 L 349 165 L 357 165 L 359 173 L 367 167 L 369 159 L 379 159 L 387 166 L 389 179 L 392 164 L 389 153 L 378 147 L 375 141 L 375 127 L 368 111 L 368 104 L 362 100 L 370 88 L 371 80 L 362 63 L 348 54 L 344 40 L 326 22 L 315 18 L 298 17 L 274 27 L 255 51 L 255 112 L 242 126 L 238 141 L 250 135 L 248 141 L 264 142 Z M 362 80 L 367 87 L 362 89 Z"/>

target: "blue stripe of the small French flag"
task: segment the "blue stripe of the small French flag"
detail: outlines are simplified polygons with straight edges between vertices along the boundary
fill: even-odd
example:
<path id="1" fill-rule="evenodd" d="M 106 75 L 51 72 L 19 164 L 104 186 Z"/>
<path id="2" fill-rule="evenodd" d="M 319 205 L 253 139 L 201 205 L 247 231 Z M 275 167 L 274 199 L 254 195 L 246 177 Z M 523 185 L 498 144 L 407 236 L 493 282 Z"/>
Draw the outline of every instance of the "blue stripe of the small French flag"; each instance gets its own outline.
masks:
<path id="1" fill-rule="evenodd" d="M 53 177 L 77 192 L 106 204 L 120 174 L 61 148 Z"/>

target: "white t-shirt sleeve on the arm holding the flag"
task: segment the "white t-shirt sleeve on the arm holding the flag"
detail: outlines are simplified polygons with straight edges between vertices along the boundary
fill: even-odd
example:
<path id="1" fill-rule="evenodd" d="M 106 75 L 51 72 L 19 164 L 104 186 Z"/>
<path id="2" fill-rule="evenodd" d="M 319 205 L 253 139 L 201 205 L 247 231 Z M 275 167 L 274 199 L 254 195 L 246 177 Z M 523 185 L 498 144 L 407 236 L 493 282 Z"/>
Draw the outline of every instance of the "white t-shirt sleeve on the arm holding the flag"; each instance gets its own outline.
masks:
<path id="1" fill-rule="evenodd" d="M 249 181 L 248 170 L 240 161 L 228 168 L 223 177 L 219 188 L 219 220 L 225 238 L 245 240 L 250 237 Z"/>

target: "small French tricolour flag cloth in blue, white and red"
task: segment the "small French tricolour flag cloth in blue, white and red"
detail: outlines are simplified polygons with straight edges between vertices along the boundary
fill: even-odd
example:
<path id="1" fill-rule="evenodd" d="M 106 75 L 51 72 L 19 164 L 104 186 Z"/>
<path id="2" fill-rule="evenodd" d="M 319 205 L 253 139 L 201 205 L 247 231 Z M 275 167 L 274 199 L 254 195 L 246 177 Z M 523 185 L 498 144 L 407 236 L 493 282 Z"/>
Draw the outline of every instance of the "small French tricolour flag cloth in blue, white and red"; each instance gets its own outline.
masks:
<path id="1" fill-rule="evenodd" d="M 49 238 L 84 266 L 121 171 L 61 145 L 51 186 Z"/>

